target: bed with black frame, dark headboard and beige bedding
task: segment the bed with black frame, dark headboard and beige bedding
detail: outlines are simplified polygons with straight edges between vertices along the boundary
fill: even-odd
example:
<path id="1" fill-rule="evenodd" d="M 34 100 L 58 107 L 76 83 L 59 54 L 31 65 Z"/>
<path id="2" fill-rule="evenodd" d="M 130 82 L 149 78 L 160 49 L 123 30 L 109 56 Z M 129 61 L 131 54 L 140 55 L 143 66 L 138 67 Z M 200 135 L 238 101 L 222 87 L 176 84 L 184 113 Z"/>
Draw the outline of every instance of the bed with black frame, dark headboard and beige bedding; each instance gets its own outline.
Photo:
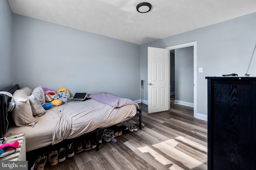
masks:
<path id="1" fill-rule="evenodd" d="M 10 93 L 19 90 L 18 84 L 6 89 Z M 90 97 L 90 95 L 89 95 Z M 34 127 L 13 125 L 10 114 L 6 112 L 7 101 L 10 98 L 0 95 L 1 136 L 12 136 L 24 133 L 26 136 L 26 152 L 34 152 L 46 147 L 58 146 L 86 134 L 96 132 L 96 150 L 99 150 L 98 132 L 104 128 L 139 117 L 141 129 L 141 110 L 138 104 L 128 104 L 113 107 L 95 99 L 79 103 L 67 102 L 46 111 L 41 117 L 36 117 Z M 8 123 L 6 122 L 6 119 Z M 8 125 L 8 128 L 7 127 Z"/>

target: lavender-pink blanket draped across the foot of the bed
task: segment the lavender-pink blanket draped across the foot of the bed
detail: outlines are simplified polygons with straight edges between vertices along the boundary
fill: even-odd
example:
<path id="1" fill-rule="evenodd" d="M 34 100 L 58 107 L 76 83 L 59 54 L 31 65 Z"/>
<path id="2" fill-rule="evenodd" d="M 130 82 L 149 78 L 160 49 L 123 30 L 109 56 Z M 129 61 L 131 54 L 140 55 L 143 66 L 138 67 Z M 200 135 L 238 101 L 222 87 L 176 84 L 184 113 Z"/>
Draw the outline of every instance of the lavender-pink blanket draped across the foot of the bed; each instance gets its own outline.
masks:
<path id="1" fill-rule="evenodd" d="M 134 101 L 132 101 L 130 99 L 110 95 L 106 92 L 90 94 L 90 95 L 88 95 L 88 97 L 90 97 L 100 103 L 110 105 L 110 106 L 114 107 L 115 109 L 118 107 L 125 106 L 125 105 L 136 105 L 136 108 L 140 109 L 139 105 L 137 103 L 135 103 Z"/>

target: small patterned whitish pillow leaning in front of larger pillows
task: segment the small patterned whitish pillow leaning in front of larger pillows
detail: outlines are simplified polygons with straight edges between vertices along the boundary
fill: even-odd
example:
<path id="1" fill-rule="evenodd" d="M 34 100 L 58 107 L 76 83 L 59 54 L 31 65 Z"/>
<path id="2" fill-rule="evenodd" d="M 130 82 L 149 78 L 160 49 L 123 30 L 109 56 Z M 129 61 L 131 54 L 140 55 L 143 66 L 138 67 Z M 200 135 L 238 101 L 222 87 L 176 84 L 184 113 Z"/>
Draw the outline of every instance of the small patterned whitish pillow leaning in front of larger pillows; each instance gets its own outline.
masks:
<path id="1" fill-rule="evenodd" d="M 46 110 L 44 110 L 38 99 L 36 99 L 35 95 L 28 96 L 28 99 L 30 101 L 32 114 L 34 117 L 40 117 L 46 113 Z"/>

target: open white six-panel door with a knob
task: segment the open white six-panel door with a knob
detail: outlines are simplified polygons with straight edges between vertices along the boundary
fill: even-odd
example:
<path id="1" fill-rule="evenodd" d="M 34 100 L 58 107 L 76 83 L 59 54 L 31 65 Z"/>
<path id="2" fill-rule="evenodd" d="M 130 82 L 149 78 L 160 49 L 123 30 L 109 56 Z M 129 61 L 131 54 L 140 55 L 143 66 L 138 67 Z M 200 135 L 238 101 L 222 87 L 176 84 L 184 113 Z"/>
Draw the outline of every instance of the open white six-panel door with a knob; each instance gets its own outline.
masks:
<path id="1" fill-rule="evenodd" d="M 169 49 L 148 47 L 148 113 L 170 109 Z"/>

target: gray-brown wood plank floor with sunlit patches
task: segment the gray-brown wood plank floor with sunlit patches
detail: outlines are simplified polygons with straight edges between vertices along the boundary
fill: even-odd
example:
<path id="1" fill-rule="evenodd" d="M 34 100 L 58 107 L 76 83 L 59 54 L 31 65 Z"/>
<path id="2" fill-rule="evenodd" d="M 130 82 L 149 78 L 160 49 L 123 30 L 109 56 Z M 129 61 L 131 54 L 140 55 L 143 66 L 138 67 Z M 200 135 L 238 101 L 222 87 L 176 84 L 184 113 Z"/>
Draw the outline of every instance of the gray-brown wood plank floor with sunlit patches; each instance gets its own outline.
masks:
<path id="1" fill-rule="evenodd" d="M 117 142 L 102 142 L 100 150 L 90 150 L 66 158 L 45 170 L 206 170 L 207 122 L 193 117 L 193 108 L 176 105 L 147 113 L 142 109 L 145 127 L 117 136 Z M 134 120 L 138 121 L 138 120 Z M 126 122 L 126 125 L 133 121 Z"/>

